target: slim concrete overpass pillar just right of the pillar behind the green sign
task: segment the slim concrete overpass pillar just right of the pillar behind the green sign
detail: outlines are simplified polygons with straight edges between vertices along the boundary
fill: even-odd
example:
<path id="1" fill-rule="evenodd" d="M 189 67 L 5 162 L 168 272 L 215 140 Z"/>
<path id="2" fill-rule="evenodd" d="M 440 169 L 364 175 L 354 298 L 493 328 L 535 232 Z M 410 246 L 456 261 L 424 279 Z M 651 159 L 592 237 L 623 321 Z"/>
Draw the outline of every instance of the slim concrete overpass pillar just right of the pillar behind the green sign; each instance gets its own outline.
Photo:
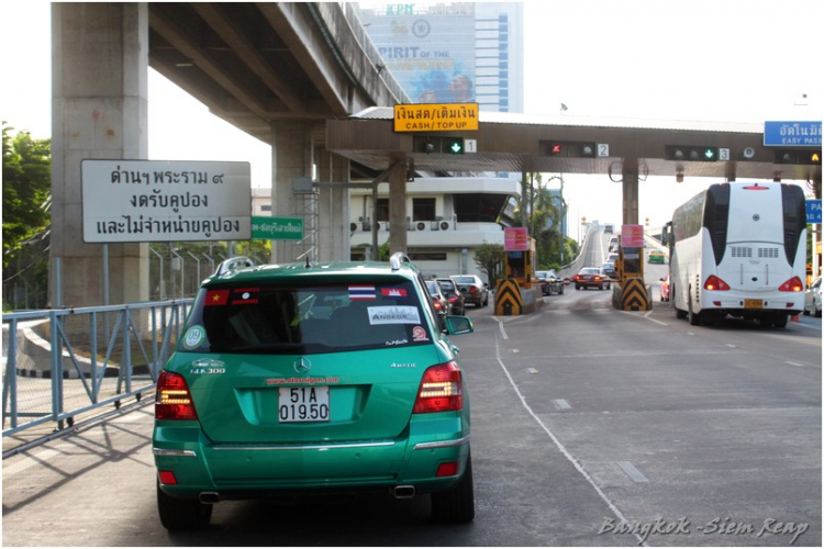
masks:
<path id="1" fill-rule="evenodd" d="M 318 204 L 318 260 L 349 259 L 349 160 L 320 149 L 318 176 L 321 184 Z"/>

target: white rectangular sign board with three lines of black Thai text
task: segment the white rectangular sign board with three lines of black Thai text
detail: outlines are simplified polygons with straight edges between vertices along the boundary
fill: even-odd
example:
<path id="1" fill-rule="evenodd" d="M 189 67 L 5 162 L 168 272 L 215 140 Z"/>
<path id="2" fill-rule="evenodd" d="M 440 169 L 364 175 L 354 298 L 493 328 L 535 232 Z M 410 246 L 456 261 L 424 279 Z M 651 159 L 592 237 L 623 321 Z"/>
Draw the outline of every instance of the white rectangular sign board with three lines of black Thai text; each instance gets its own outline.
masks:
<path id="1" fill-rule="evenodd" d="M 85 243 L 247 240 L 249 163 L 82 160 Z"/>

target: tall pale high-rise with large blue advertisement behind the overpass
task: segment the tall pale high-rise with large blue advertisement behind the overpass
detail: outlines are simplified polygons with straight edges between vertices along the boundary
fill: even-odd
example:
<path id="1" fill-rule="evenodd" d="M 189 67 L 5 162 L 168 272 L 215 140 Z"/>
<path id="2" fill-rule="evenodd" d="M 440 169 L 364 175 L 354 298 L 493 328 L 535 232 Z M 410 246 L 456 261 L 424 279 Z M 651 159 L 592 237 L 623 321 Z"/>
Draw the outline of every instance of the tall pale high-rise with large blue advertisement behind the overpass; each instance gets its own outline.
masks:
<path id="1" fill-rule="evenodd" d="M 523 4 L 360 3 L 358 14 L 414 101 L 523 112 Z"/>

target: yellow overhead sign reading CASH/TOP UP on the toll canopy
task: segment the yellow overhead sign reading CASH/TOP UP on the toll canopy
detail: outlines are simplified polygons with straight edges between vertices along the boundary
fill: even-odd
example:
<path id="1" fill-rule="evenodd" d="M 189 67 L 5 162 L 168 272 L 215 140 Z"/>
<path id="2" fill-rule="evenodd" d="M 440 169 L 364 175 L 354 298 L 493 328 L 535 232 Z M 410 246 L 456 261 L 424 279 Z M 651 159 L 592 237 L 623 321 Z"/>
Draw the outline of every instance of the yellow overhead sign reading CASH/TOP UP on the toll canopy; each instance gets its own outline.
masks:
<path id="1" fill-rule="evenodd" d="M 478 103 L 394 105 L 396 132 L 468 132 L 478 130 Z"/>

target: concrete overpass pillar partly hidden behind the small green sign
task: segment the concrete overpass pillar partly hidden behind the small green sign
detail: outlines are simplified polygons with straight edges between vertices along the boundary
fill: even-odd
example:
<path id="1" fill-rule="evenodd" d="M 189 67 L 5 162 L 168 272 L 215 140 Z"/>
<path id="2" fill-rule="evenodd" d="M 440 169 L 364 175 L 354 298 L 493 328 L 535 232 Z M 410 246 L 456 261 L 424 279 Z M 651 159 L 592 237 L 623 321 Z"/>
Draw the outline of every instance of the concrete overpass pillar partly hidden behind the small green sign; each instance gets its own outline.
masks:
<path id="1" fill-rule="evenodd" d="M 271 211 L 275 217 L 299 217 L 293 211 L 292 180 L 312 177 L 312 126 L 307 122 L 278 121 L 271 124 Z M 271 242 L 271 260 L 296 261 L 296 245 Z"/>

